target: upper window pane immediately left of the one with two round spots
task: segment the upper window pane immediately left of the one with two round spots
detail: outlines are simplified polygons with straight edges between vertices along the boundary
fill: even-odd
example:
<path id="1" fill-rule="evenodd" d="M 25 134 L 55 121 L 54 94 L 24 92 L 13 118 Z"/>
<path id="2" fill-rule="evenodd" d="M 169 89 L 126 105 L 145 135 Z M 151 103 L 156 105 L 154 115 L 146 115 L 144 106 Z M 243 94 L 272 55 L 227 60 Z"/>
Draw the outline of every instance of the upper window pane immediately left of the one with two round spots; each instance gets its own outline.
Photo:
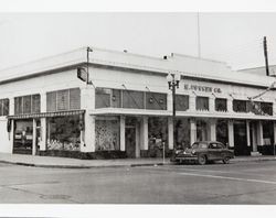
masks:
<path id="1" fill-rule="evenodd" d="M 144 91 L 123 90 L 123 107 L 145 109 Z"/>

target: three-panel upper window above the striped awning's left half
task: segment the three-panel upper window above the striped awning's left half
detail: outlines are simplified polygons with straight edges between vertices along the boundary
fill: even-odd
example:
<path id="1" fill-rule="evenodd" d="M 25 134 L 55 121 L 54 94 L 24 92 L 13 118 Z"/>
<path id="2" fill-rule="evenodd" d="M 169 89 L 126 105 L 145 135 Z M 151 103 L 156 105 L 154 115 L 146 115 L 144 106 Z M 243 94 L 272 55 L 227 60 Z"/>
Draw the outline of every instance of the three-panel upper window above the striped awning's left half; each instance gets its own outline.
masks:
<path id="1" fill-rule="evenodd" d="M 35 112 L 40 112 L 40 95 L 21 96 L 14 98 L 15 115 Z"/>

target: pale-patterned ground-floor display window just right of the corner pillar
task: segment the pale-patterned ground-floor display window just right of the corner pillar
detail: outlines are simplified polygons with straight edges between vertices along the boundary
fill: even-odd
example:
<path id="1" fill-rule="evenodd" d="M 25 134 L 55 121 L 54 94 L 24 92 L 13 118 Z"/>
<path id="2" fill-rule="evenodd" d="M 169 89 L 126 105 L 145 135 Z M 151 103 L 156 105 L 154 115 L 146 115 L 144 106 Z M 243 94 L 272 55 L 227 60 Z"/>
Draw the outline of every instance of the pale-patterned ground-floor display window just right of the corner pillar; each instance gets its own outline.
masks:
<path id="1" fill-rule="evenodd" d="M 96 120 L 96 150 L 112 151 L 119 150 L 120 127 L 119 119 L 103 118 Z"/>

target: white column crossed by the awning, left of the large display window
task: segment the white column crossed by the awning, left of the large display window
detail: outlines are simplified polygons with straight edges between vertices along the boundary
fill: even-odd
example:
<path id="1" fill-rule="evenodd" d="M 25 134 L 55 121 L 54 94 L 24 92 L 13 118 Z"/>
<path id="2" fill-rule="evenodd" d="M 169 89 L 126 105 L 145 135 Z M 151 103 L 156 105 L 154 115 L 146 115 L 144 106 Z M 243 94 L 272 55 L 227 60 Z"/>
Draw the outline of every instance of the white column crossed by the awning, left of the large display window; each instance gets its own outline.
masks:
<path id="1" fill-rule="evenodd" d="M 47 106 L 46 106 L 46 94 L 42 92 L 40 94 L 40 107 L 41 107 L 41 112 L 46 112 L 47 111 Z M 41 142 L 40 142 L 40 151 L 46 151 L 46 141 L 47 141 L 47 128 L 46 128 L 46 118 L 41 118 Z"/>

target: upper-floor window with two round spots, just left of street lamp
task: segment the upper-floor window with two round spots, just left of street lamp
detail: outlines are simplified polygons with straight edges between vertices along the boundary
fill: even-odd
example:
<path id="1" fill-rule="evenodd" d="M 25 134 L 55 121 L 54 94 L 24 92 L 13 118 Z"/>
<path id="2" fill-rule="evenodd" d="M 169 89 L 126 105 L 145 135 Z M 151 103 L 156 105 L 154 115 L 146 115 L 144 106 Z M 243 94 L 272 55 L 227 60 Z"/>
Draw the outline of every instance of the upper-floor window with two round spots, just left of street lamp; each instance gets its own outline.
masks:
<path id="1" fill-rule="evenodd" d="M 146 92 L 146 109 L 167 110 L 167 95 L 158 92 Z"/>

